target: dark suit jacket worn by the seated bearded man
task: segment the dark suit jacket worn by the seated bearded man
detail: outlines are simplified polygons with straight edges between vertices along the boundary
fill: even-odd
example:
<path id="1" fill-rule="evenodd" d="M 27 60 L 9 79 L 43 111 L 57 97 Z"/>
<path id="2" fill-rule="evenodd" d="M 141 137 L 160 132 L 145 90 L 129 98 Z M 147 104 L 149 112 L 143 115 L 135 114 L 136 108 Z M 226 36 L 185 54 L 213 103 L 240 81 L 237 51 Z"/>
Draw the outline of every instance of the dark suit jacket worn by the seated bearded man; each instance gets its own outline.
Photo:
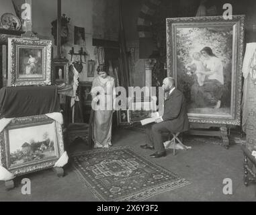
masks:
<path id="1" fill-rule="evenodd" d="M 174 89 L 165 100 L 162 118 L 171 132 L 185 132 L 189 129 L 185 97 L 178 89 Z"/>

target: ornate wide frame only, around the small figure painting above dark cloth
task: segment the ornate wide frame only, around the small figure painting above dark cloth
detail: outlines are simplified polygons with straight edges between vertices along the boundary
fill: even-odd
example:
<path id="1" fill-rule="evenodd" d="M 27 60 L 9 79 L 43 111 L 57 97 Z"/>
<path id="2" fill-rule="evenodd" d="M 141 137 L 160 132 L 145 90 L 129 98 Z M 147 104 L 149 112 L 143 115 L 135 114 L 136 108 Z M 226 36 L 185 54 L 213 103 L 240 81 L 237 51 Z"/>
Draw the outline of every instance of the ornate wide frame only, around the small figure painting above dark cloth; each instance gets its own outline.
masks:
<path id="1" fill-rule="evenodd" d="M 19 49 L 38 48 L 42 49 L 42 78 L 18 78 L 19 72 Z M 8 38 L 8 87 L 26 85 L 50 85 L 51 84 L 51 40 L 35 40 L 29 38 Z"/>

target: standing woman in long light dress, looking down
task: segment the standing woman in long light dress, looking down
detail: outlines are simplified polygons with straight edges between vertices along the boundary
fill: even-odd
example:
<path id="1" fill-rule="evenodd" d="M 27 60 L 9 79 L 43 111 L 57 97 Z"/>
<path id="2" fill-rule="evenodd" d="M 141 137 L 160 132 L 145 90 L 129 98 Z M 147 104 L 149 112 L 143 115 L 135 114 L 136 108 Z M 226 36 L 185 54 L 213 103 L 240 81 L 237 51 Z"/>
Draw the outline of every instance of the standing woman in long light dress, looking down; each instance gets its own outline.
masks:
<path id="1" fill-rule="evenodd" d="M 97 67 L 98 76 L 93 80 L 91 95 L 93 99 L 92 139 L 95 148 L 112 146 L 112 116 L 115 81 L 107 73 L 107 67 L 100 64 Z"/>

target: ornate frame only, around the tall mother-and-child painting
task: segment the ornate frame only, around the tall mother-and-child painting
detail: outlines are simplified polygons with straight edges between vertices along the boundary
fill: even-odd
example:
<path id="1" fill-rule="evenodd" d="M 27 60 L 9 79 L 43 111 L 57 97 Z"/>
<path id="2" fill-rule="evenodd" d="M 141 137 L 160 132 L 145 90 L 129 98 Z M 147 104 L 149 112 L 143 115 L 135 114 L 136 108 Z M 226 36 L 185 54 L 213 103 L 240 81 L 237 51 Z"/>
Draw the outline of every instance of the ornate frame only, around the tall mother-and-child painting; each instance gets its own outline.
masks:
<path id="1" fill-rule="evenodd" d="M 241 124 L 242 64 L 245 15 L 233 15 L 232 19 L 222 16 L 167 18 L 167 75 L 175 78 L 177 85 L 177 28 L 232 26 L 232 85 L 230 114 L 188 113 L 189 122 L 202 124 Z"/>

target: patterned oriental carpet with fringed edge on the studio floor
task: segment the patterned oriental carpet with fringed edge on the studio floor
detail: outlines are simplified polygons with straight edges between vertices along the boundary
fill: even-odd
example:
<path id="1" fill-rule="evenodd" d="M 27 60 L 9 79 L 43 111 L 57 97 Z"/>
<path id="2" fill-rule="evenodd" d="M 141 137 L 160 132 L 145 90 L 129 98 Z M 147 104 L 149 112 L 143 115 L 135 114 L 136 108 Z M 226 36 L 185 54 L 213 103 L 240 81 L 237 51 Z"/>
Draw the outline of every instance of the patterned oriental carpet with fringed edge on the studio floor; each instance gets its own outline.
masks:
<path id="1" fill-rule="evenodd" d="M 137 202 L 189 184 L 186 179 L 137 155 L 130 147 L 73 155 L 73 167 L 95 196 L 107 202 Z"/>

